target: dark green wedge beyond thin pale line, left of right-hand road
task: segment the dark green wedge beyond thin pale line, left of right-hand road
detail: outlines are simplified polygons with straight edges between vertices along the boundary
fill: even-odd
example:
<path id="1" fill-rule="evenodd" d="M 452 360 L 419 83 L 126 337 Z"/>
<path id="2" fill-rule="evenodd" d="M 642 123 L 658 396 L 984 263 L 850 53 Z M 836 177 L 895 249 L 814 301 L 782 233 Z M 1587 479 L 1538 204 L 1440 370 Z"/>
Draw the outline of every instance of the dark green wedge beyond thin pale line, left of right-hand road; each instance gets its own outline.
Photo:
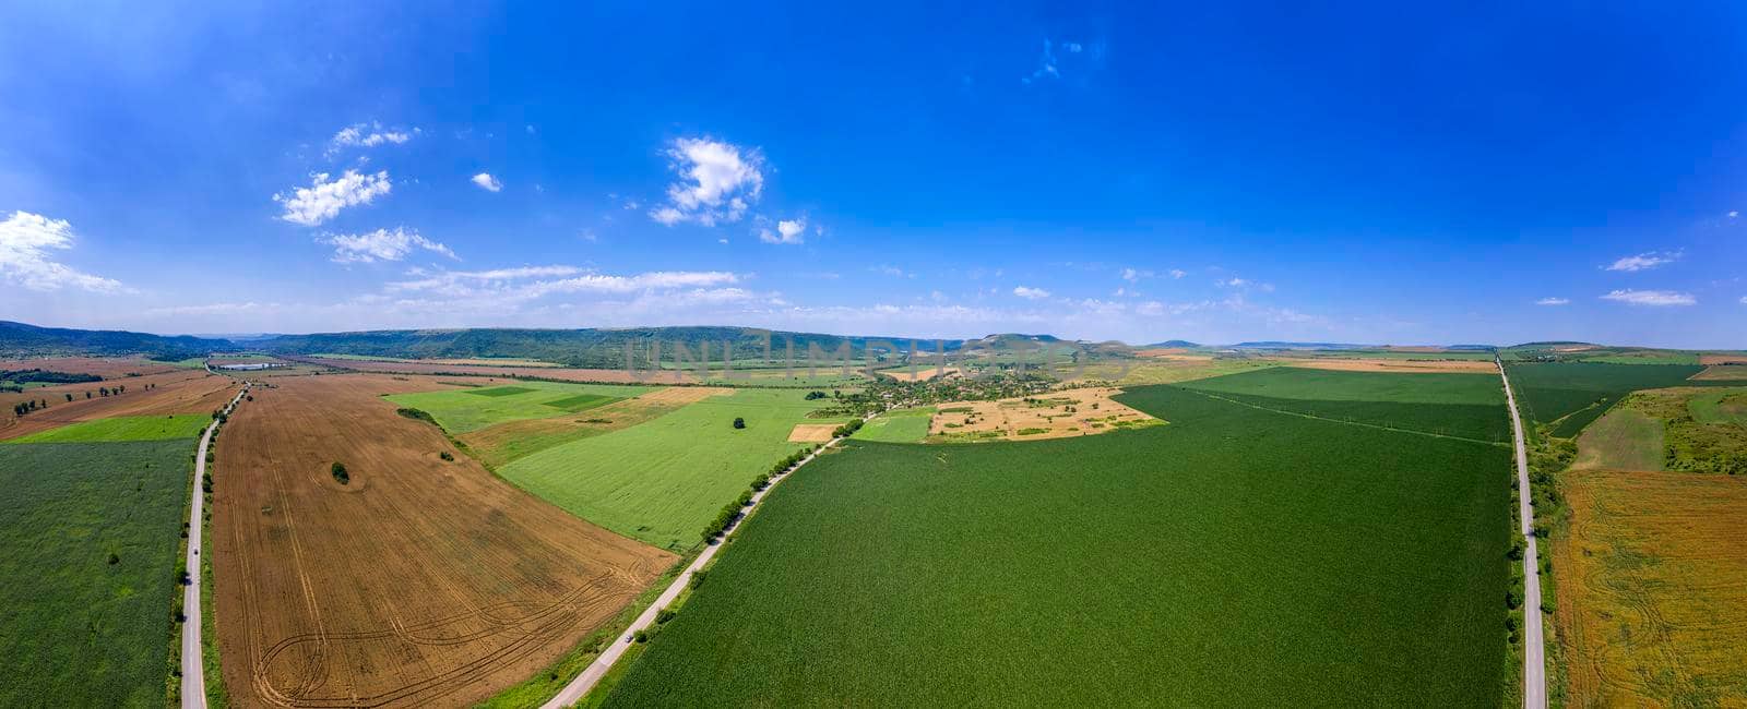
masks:
<path id="1" fill-rule="evenodd" d="M 1511 440 L 1504 384 L 1495 374 L 1274 367 L 1183 386 L 1272 410 L 1459 438 Z"/>

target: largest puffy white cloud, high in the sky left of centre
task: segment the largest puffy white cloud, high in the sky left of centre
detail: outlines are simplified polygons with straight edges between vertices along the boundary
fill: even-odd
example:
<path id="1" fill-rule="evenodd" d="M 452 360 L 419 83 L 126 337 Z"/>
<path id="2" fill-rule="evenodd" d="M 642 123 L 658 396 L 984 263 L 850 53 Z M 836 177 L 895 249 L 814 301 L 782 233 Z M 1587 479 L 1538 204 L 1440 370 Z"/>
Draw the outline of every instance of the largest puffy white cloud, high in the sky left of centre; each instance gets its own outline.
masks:
<path id="1" fill-rule="evenodd" d="M 713 227 L 739 222 L 763 192 L 763 157 L 732 143 L 680 138 L 667 148 L 669 168 L 680 176 L 667 185 L 667 204 L 650 210 L 655 222 L 695 222 Z"/>

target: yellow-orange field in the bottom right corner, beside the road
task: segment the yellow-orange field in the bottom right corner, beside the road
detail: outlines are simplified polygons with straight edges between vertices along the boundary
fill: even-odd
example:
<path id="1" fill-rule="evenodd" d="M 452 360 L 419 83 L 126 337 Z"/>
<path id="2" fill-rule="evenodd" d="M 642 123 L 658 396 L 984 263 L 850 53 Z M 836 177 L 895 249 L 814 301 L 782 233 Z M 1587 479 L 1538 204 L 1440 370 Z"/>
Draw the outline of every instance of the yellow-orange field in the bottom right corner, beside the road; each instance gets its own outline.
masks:
<path id="1" fill-rule="evenodd" d="M 1747 480 L 1569 472 L 1569 706 L 1747 706 Z"/>

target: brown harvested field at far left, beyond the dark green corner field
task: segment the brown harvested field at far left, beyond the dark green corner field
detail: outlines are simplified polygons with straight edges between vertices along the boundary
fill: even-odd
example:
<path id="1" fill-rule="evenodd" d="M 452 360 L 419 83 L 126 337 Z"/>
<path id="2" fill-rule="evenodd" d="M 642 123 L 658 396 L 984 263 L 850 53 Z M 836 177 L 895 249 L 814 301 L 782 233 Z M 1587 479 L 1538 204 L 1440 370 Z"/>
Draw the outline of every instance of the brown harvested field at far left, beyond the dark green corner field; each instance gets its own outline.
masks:
<path id="1" fill-rule="evenodd" d="M 126 388 L 126 393 L 101 396 L 100 388 Z M 56 384 L 24 393 L 0 395 L 0 440 L 61 428 L 77 421 L 110 416 L 210 414 L 236 395 L 238 382 L 206 370 L 173 370 L 117 381 Z M 86 391 L 91 398 L 86 398 Z M 66 396 L 73 398 L 68 400 Z M 23 400 L 49 402 L 47 409 L 17 417 L 12 405 Z"/>

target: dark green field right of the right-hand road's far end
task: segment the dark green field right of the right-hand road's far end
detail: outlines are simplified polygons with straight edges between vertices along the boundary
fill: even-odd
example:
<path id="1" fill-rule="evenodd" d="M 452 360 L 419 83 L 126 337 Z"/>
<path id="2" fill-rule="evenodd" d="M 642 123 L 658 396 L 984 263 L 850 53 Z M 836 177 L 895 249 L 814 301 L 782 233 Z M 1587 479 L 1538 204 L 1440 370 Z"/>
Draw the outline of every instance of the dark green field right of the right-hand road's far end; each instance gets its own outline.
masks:
<path id="1" fill-rule="evenodd" d="M 1506 365 L 1516 403 L 1525 419 L 1551 426 L 1551 435 L 1571 438 L 1599 419 L 1607 407 L 1637 389 L 1705 384 L 1688 381 L 1698 365 L 1609 365 L 1590 361 Z"/>

